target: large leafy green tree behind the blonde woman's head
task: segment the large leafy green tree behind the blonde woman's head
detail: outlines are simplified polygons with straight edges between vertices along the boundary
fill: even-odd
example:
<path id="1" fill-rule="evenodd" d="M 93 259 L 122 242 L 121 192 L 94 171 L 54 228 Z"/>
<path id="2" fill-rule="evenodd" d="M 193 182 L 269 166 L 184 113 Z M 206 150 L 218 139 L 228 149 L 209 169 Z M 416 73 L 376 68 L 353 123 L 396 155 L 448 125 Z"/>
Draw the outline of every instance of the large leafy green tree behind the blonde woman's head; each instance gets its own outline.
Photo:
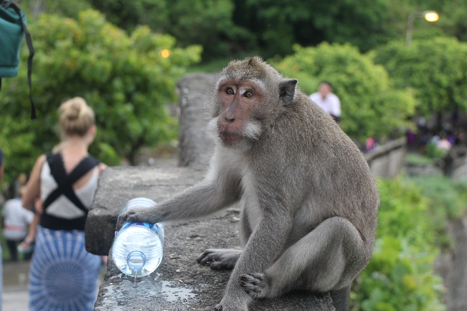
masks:
<path id="1" fill-rule="evenodd" d="M 7 123 L 11 128 L 0 132 L 0 141 L 33 133 L 23 135 L 21 142 L 35 146 L 25 147 L 31 152 L 25 156 L 34 162 L 57 143 L 57 108 L 74 96 L 93 107 L 98 134 L 90 152 L 109 165 L 118 164 L 121 157 L 134 164 L 142 147 L 176 138 L 177 124 L 167 104 L 176 100 L 176 82 L 185 68 L 199 61 L 199 46 L 175 48 L 175 38 L 152 34 L 147 27 L 128 36 L 92 10 L 81 12 L 76 20 L 43 15 L 30 23 L 30 29 L 36 49 L 33 95 L 38 119 L 24 121 L 29 118 L 25 96 L 29 90 L 26 72 L 20 69 L 18 77 L 4 79 L 0 93 L 2 119 L 11 116 L 18 121 Z M 22 64 L 26 64 L 28 52 L 23 48 Z M 162 49 L 171 50 L 170 57 L 162 58 Z M 7 155 L 9 163 L 22 160 L 13 149 Z"/>

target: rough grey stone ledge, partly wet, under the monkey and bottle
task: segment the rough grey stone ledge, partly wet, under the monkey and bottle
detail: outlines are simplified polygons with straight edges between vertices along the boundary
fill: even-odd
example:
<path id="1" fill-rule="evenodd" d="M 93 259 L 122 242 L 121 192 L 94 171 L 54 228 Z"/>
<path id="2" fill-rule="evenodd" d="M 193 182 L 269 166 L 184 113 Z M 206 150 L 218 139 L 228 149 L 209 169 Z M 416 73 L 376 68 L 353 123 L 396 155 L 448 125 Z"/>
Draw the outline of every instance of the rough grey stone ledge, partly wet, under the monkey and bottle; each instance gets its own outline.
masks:
<path id="1" fill-rule="evenodd" d="M 111 167 L 104 171 L 86 223 L 86 247 L 107 255 L 120 208 L 135 197 L 161 201 L 202 178 L 203 171 L 179 167 Z M 238 248 L 238 216 L 228 209 L 196 220 L 166 224 L 162 263 L 153 274 L 134 279 L 115 267 L 111 256 L 99 288 L 95 311 L 213 310 L 221 300 L 230 271 L 213 271 L 196 258 L 209 247 Z M 250 310 L 332 311 L 329 294 L 287 294 L 253 301 Z"/>

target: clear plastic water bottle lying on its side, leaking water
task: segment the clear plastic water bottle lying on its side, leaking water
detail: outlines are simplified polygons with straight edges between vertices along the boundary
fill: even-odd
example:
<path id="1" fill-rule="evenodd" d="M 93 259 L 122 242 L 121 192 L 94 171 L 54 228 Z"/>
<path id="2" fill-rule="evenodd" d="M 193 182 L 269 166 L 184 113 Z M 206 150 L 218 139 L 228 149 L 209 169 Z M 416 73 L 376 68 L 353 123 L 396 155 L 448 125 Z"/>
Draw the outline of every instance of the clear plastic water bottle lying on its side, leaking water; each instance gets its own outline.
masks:
<path id="1" fill-rule="evenodd" d="M 150 199 L 132 199 L 122 207 L 117 223 L 120 216 L 128 209 L 155 205 L 156 202 Z M 154 272 L 161 263 L 163 243 L 164 226 L 162 223 L 124 222 L 122 228 L 115 232 L 112 259 L 118 269 L 127 276 L 146 276 Z"/>

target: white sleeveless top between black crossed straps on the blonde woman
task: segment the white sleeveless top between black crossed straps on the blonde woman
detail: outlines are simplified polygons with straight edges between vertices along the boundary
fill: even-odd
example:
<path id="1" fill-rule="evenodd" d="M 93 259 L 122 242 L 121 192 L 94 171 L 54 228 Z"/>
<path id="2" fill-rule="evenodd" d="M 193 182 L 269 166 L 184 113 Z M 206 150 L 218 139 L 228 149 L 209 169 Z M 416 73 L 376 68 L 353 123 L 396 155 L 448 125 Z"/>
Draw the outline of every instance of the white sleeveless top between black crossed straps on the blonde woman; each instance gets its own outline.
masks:
<path id="1" fill-rule="evenodd" d="M 88 182 L 74 190 L 76 196 L 81 200 L 83 205 L 87 208 L 90 207 L 94 193 L 97 189 L 97 181 L 99 179 L 99 167 L 94 167 L 92 175 Z M 49 163 L 44 161 L 42 170 L 40 172 L 40 198 L 42 202 L 49 196 L 49 194 L 58 187 L 54 176 L 50 172 Z M 82 217 L 85 212 L 76 207 L 65 195 L 60 195 L 49 207 L 46 208 L 45 213 L 54 217 L 73 219 Z"/>

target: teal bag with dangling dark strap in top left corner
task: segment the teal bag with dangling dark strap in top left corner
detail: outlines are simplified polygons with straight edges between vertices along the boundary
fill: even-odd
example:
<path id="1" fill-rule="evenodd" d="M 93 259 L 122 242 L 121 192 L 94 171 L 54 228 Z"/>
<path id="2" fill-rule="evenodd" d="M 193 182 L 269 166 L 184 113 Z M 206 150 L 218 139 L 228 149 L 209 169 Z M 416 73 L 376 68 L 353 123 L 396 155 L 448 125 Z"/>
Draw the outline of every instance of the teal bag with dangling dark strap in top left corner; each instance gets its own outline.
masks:
<path id="1" fill-rule="evenodd" d="M 0 89 L 1 78 L 16 77 L 19 68 L 19 47 L 26 36 L 29 48 L 28 83 L 31 101 L 31 119 L 36 119 L 36 107 L 31 95 L 31 73 L 34 47 L 31 34 L 26 27 L 24 12 L 12 0 L 0 0 Z"/>

